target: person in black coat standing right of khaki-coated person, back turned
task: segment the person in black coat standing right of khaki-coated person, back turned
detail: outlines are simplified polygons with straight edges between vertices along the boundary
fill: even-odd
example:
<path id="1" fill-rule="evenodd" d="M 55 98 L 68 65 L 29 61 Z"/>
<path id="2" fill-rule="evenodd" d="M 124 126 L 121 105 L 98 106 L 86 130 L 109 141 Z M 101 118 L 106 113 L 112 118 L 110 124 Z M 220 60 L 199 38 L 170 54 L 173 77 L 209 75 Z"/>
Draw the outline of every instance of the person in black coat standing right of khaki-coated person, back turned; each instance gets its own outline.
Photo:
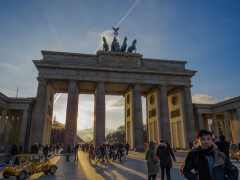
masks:
<path id="1" fill-rule="evenodd" d="M 167 180 L 170 180 L 170 169 L 172 166 L 171 154 L 163 140 L 161 140 L 158 145 L 157 156 L 160 160 L 161 179 L 164 179 L 164 174 L 166 171 Z"/>

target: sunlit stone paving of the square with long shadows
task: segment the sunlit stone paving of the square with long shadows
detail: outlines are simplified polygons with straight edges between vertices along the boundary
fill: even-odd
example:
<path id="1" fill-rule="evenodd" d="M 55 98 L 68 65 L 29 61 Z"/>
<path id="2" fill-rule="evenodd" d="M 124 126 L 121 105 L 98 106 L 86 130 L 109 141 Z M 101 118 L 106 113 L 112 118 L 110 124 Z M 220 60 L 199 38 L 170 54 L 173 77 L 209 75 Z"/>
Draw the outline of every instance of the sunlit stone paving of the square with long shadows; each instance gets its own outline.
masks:
<path id="1" fill-rule="evenodd" d="M 172 180 L 184 180 L 185 178 L 179 172 L 179 166 L 185 157 L 186 152 L 175 153 L 177 163 L 173 163 L 173 168 L 171 169 L 171 179 Z M 2 159 L 2 158 L 0 158 Z M 39 179 L 39 180 L 66 180 L 66 179 L 113 179 L 113 180 L 123 180 L 123 179 L 147 179 L 147 169 L 145 161 L 145 153 L 130 152 L 129 156 L 119 162 L 99 162 L 90 164 L 87 160 L 87 154 L 84 152 L 79 152 L 79 161 L 74 161 L 74 156 L 70 156 L 70 161 L 66 161 L 66 156 L 56 155 L 51 157 L 51 162 L 58 166 L 58 170 L 54 175 L 44 173 L 36 173 L 31 176 L 26 177 L 26 179 Z M 240 162 L 233 161 L 233 163 L 240 170 Z M 0 167 L 0 171 L 4 167 Z M 0 179 L 2 173 L 0 174 Z M 10 177 L 9 179 L 15 179 L 15 177 Z M 160 180 L 160 173 L 157 174 L 157 179 Z"/>

